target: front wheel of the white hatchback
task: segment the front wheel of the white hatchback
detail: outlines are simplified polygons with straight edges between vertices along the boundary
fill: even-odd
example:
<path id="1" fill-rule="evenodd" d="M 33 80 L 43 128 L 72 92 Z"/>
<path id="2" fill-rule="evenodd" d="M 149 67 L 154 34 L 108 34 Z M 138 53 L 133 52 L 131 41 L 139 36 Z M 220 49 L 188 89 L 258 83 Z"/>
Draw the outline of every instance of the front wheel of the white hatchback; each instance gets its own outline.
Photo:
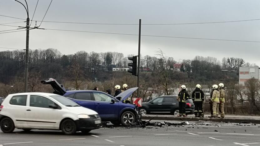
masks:
<path id="1" fill-rule="evenodd" d="M 64 134 L 75 134 L 77 131 L 76 124 L 71 119 L 66 119 L 61 124 L 61 130 Z"/>

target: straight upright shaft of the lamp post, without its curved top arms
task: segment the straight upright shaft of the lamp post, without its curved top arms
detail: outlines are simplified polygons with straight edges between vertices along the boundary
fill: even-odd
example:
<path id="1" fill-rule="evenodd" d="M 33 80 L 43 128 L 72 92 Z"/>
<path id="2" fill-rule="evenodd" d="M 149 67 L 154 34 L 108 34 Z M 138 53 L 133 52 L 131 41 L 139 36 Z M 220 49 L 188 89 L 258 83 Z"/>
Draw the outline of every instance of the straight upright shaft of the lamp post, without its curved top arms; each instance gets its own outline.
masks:
<path id="1" fill-rule="evenodd" d="M 28 87 L 28 66 L 29 66 L 29 26 L 30 18 L 26 19 L 26 51 L 25 51 L 25 80 L 24 80 L 24 92 L 27 92 Z"/>

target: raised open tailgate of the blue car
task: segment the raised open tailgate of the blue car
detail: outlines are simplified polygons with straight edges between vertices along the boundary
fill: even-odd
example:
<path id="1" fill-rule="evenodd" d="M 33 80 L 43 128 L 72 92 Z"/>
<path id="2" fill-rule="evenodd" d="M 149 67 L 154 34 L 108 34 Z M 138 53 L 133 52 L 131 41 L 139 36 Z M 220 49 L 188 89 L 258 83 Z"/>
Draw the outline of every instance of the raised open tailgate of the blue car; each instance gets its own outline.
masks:
<path id="1" fill-rule="evenodd" d="M 66 93 L 66 90 L 64 88 L 64 86 L 61 84 L 59 84 L 55 79 L 53 78 L 49 78 L 47 80 L 42 80 L 41 81 L 42 84 L 49 84 L 53 87 L 53 89 L 55 90 L 53 93 L 54 94 L 58 94 L 58 95 L 64 95 Z"/>

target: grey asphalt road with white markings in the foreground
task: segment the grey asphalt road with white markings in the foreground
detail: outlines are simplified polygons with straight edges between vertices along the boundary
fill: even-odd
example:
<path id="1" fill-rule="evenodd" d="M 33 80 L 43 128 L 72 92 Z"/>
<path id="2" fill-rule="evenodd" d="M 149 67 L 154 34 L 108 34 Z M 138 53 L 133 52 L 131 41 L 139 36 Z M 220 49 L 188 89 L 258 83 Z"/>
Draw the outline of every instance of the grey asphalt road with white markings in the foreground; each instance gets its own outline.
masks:
<path id="1" fill-rule="evenodd" d="M 160 121 L 163 122 L 163 121 Z M 168 121 L 178 123 L 180 121 Z M 61 131 L 16 129 L 0 131 L 0 146 L 259 146 L 260 125 L 190 122 L 193 125 L 146 128 L 101 128 L 87 135 L 64 135 Z"/>

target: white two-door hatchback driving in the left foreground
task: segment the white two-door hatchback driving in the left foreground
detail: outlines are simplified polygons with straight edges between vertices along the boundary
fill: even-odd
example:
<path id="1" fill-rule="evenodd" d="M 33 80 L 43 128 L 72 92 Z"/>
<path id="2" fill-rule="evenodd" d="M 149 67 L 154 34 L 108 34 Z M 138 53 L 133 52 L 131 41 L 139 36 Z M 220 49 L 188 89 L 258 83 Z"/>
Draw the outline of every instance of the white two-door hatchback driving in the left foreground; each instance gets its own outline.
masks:
<path id="1" fill-rule="evenodd" d="M 15 128 L 62 130 L 64 134 L 88 133 L 98 129 L 100 124 L 97 112 L 56 94 L 11 94 L 0 106 L 0 127 L 4 133 L 11 133 Z"/>

